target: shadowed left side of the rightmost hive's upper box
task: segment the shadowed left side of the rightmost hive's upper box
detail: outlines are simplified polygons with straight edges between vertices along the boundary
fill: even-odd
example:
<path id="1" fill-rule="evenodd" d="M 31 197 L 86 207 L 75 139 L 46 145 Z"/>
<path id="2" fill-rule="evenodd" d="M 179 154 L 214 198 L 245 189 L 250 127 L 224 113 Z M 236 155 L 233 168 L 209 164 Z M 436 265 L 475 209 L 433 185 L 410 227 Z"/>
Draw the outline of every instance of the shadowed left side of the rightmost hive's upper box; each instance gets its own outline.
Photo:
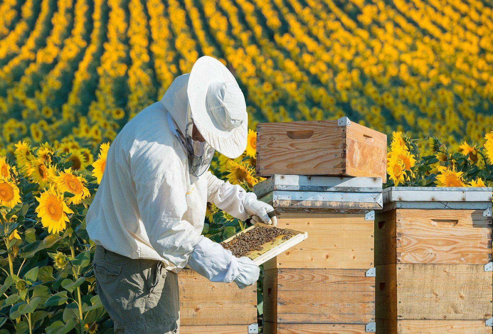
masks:
<path id="1" fill-rule="evenodd" d="M 395 210 L 375 213 L 375 266 L 396 263 Z"/>

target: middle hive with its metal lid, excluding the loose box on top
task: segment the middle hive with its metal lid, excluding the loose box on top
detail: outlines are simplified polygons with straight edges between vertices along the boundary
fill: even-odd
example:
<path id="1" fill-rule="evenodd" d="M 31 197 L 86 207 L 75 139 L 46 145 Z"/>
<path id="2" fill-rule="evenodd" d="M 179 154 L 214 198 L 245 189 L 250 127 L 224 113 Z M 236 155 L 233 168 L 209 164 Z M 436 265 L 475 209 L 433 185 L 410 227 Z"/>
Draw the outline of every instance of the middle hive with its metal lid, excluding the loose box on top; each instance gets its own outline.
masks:
<path id="1" fill-rule="evenodd" d="M 309 236 L 264 264 L 264 333 L 371 330 L 382 180 L 275 175 L 254 191 L 281 212 L 279 227 Z"/>

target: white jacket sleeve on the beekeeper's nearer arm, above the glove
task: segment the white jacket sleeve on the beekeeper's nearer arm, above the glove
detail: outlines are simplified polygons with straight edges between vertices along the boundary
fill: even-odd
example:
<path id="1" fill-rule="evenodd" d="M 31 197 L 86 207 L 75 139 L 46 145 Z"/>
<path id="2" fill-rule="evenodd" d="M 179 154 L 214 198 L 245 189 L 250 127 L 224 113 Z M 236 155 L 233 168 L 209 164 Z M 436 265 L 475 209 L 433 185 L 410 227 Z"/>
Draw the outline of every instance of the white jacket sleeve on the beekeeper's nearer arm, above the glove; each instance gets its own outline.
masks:
<path id="1" fill-rule="evenodd" d="M 161 168 L 145 170 L 142 167 L 134 168 L 132 174 L 139 213 L 149 243 L 164 259 L 183 267 L 200 235 L 192 224 L 182 220 L 187 210 L 182 173 L 173 161 L 166 164 L 168 171 Z M 142 166 L 141 163 L 137 165 Z"/>

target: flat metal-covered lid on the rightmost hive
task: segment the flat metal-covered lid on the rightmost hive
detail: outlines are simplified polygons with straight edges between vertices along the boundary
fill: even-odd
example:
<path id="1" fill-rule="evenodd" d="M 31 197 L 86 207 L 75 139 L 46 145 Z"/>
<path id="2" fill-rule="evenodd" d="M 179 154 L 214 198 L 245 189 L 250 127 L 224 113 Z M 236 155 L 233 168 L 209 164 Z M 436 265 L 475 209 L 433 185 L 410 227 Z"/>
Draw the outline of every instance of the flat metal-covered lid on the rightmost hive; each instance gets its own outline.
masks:
<path id="1" fill-rule="evenodd" d="M 490 209 L 493 187 L 389 187 L 383 191 L 384 210 Z"/>

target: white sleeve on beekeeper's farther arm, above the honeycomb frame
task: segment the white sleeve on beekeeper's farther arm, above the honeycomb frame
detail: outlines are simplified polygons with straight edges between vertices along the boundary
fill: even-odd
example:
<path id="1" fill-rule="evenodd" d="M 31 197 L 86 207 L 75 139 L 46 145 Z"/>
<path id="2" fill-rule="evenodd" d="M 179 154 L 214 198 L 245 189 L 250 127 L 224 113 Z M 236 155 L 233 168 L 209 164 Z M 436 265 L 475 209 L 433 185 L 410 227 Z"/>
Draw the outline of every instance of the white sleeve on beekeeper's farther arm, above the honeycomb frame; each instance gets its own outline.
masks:
<path id="1" fill-rule="evenodd" d="M 252 192 L 247 193 L 238 184 L 224 182 L 211 172 L 207 173 L 207 201 L 235 218 L 246 220 L 248 213 L 245 212 L 243 203 L 247 198 L 257 199 L 257 196 Z"/>

